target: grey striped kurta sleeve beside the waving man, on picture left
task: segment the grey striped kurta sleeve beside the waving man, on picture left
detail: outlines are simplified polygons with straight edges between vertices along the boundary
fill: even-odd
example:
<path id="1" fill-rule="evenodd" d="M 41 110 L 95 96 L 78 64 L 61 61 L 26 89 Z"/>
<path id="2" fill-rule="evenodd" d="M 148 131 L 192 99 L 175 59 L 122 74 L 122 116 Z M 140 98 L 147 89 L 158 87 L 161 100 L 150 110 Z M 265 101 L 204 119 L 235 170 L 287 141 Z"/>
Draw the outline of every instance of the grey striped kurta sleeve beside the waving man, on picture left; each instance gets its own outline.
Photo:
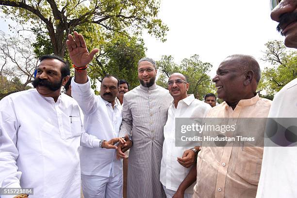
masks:
<path id="1" fill-rule="evenodd" d="M 120 132 L 118 137 L 125 137 L 128 135 L 128 137 L 131 139 L 131 132 L 132 132 L 132 113 L 131 109 L 129 107 L 129 102 L 127 101 L 127 98 L 123 98 L 123 108 L 122 108 L 122 116 L 123 121 L 122 125 L 120 127 Z"/>

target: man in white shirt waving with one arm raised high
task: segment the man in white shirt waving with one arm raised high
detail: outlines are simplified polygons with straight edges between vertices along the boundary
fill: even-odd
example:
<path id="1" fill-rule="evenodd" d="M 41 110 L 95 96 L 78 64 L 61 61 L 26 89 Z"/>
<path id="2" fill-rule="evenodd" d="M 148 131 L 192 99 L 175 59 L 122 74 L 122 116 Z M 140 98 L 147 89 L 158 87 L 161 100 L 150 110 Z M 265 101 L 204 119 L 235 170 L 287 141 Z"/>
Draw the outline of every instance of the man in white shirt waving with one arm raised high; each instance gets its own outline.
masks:
<path id="1" fill-rule="evenodd" d="M 121 104 L 116 98 L 119 80 L 105 76 L 101 81 L 100 96 L 91 89 L 87 76 L 87 64 L 93 56 L 87 52 L 82 35 L 69 34 L 67 47 L 75 65 L 75 76 L 71 81 L 72 97 L 84 114 L 85 130 L 99 139 L 118 137 L 122 123 Z M 116 159 L 115 150 L 81 148 L 82 192 L 84 198 L 122 198 L 123 165 Z"/>

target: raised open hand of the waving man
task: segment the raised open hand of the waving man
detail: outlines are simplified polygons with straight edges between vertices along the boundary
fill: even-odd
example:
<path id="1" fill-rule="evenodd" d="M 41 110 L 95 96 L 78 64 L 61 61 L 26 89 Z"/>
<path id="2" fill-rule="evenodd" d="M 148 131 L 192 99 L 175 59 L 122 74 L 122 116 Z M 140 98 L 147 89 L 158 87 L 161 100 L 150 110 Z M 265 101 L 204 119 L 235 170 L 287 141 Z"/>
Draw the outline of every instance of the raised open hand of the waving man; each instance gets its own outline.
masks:
<path id="1" fill-rule="evenodd" d="M 74 31 L 73 35 L 74 38 L 71 34 L 68 34 L 68 40 L 66 41 L 70 59 L 76 67 L 84 67 L 92 61 L 99 49 L 95 48 L 89 53 L 82 34 Z"/>

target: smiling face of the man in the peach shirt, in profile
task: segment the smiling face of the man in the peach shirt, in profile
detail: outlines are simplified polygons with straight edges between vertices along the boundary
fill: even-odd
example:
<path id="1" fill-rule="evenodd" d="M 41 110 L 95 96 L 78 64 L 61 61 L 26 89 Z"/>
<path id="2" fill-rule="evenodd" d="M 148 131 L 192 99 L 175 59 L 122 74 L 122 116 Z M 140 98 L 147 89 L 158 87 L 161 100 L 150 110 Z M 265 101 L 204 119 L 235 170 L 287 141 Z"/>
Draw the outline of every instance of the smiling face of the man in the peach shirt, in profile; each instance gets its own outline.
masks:
<path id="1" fill-rule="evenodd" d="M 219 65 L 213 78 L 217 88 L 217 97 L 227 103 L 238 103 L 245 94 L 245 73 L 241 69 L 241 61 L 236 58 L 227 58 Z"/>

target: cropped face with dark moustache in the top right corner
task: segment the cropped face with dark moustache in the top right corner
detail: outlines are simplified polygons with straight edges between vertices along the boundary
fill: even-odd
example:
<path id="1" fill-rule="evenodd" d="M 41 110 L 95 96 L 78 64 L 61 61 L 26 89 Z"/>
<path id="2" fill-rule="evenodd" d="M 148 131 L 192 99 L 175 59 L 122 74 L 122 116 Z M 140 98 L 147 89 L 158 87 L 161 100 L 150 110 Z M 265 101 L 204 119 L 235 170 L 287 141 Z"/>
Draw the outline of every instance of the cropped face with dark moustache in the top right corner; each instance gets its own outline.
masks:
<path id="1" fill-rule="evenodd" d="M 277 29 L 285 36 L 285 46 L 297 48 L 297 0 L 281 0 L 270 16 L 279 22 Z"/>

